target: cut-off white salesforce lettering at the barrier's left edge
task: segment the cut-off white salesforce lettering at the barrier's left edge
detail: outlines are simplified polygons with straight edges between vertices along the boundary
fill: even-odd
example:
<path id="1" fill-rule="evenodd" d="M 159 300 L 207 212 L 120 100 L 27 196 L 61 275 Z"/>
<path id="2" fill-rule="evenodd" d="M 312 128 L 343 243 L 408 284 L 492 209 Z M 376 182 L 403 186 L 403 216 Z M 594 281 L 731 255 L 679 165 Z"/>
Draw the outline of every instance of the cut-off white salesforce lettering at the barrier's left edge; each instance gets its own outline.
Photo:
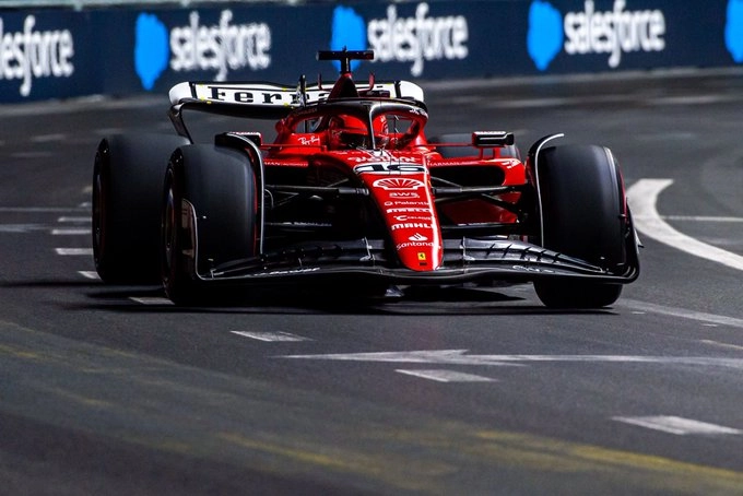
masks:
<path id="1" fill-rule="evenodd" d="M 26 15 L 23 31 L 5 32 L 0 17 L 0 80 L 20 80 L 19 93 L 28 96 L 34 79 L 69 78 L 74 73 L 74 39 L 69 29 L 37 31 Z"/>

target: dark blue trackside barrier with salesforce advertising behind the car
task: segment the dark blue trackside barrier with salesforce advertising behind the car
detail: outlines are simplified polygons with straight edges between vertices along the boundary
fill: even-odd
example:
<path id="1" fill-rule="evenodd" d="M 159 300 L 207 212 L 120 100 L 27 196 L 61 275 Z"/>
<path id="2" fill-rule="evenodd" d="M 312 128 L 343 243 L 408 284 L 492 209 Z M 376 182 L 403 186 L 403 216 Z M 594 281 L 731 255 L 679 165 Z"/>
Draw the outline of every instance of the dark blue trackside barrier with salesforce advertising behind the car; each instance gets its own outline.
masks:
<path id="1" fill-rule="evenodd" d="M 704 7 L 703 7 L 704 5 Z M 435 80 L 743 63 L 743 0 L 439 0 L 1 10 L 0 102 L 295 84 L 371 48 L 358 76 Z M 255 97 L 246 95 L 246 97 Z"/>

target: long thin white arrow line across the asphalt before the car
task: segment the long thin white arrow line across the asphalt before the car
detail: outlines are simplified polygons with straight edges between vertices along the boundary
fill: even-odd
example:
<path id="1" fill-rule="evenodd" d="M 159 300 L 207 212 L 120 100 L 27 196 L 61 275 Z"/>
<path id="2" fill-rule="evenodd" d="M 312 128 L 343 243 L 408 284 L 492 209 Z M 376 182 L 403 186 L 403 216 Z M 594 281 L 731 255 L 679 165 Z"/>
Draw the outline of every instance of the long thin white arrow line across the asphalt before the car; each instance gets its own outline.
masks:
<path id="1" fill-rule="evenodd" d="M 467 355 L 468 350 L 425 350 L 411 352 L 340 353 L 319 355 L 283 355 L 282 358 L 329 359 L 346 362 L 386 362 L 406 364 L 523 366 L 533 363 L 597 363 L 689 365 L 729 367 L 743 370 L 743 358 L 710 356 L 651 356 L 651 355 Z"/>

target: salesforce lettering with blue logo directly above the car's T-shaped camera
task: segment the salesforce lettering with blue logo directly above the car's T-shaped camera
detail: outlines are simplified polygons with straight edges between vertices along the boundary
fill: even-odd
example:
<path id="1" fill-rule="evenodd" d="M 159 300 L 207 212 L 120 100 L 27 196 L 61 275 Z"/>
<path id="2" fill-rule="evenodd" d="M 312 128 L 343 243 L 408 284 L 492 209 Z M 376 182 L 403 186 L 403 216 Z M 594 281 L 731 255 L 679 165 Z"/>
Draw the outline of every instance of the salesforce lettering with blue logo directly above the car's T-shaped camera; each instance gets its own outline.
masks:
<path id="1" fill-rule="evenodd" d="M 412 17 L 399 16 L 392 4 L 387 7 L 385 17 L 368 23 L 352 8 L 339 5 L 333 11 L 330 45 L 334 50 L 370 48 L 375 52 L 373 63 L 412 62 L 411 75 L 420 76 L 426 61 L 465 59 L 469 38 L 467 17 L 429 15 L 425 2 L 415 7 Z M 352 69 L 355 67 L 352 64 Z"/>

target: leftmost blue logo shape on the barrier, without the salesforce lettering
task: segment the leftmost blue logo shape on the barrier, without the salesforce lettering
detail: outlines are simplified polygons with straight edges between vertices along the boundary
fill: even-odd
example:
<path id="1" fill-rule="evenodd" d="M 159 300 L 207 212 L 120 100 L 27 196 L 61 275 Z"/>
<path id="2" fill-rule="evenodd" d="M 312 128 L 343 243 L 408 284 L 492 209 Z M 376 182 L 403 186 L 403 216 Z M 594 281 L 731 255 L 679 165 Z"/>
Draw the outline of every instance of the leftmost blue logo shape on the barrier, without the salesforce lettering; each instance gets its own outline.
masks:
<path id="1" fill-rule="evenodd" d="M 169 59 L 167 27 L 154 14 L 140 14 L 134 35 L 134 70 L 144 90 L 153 88 Z"/>

